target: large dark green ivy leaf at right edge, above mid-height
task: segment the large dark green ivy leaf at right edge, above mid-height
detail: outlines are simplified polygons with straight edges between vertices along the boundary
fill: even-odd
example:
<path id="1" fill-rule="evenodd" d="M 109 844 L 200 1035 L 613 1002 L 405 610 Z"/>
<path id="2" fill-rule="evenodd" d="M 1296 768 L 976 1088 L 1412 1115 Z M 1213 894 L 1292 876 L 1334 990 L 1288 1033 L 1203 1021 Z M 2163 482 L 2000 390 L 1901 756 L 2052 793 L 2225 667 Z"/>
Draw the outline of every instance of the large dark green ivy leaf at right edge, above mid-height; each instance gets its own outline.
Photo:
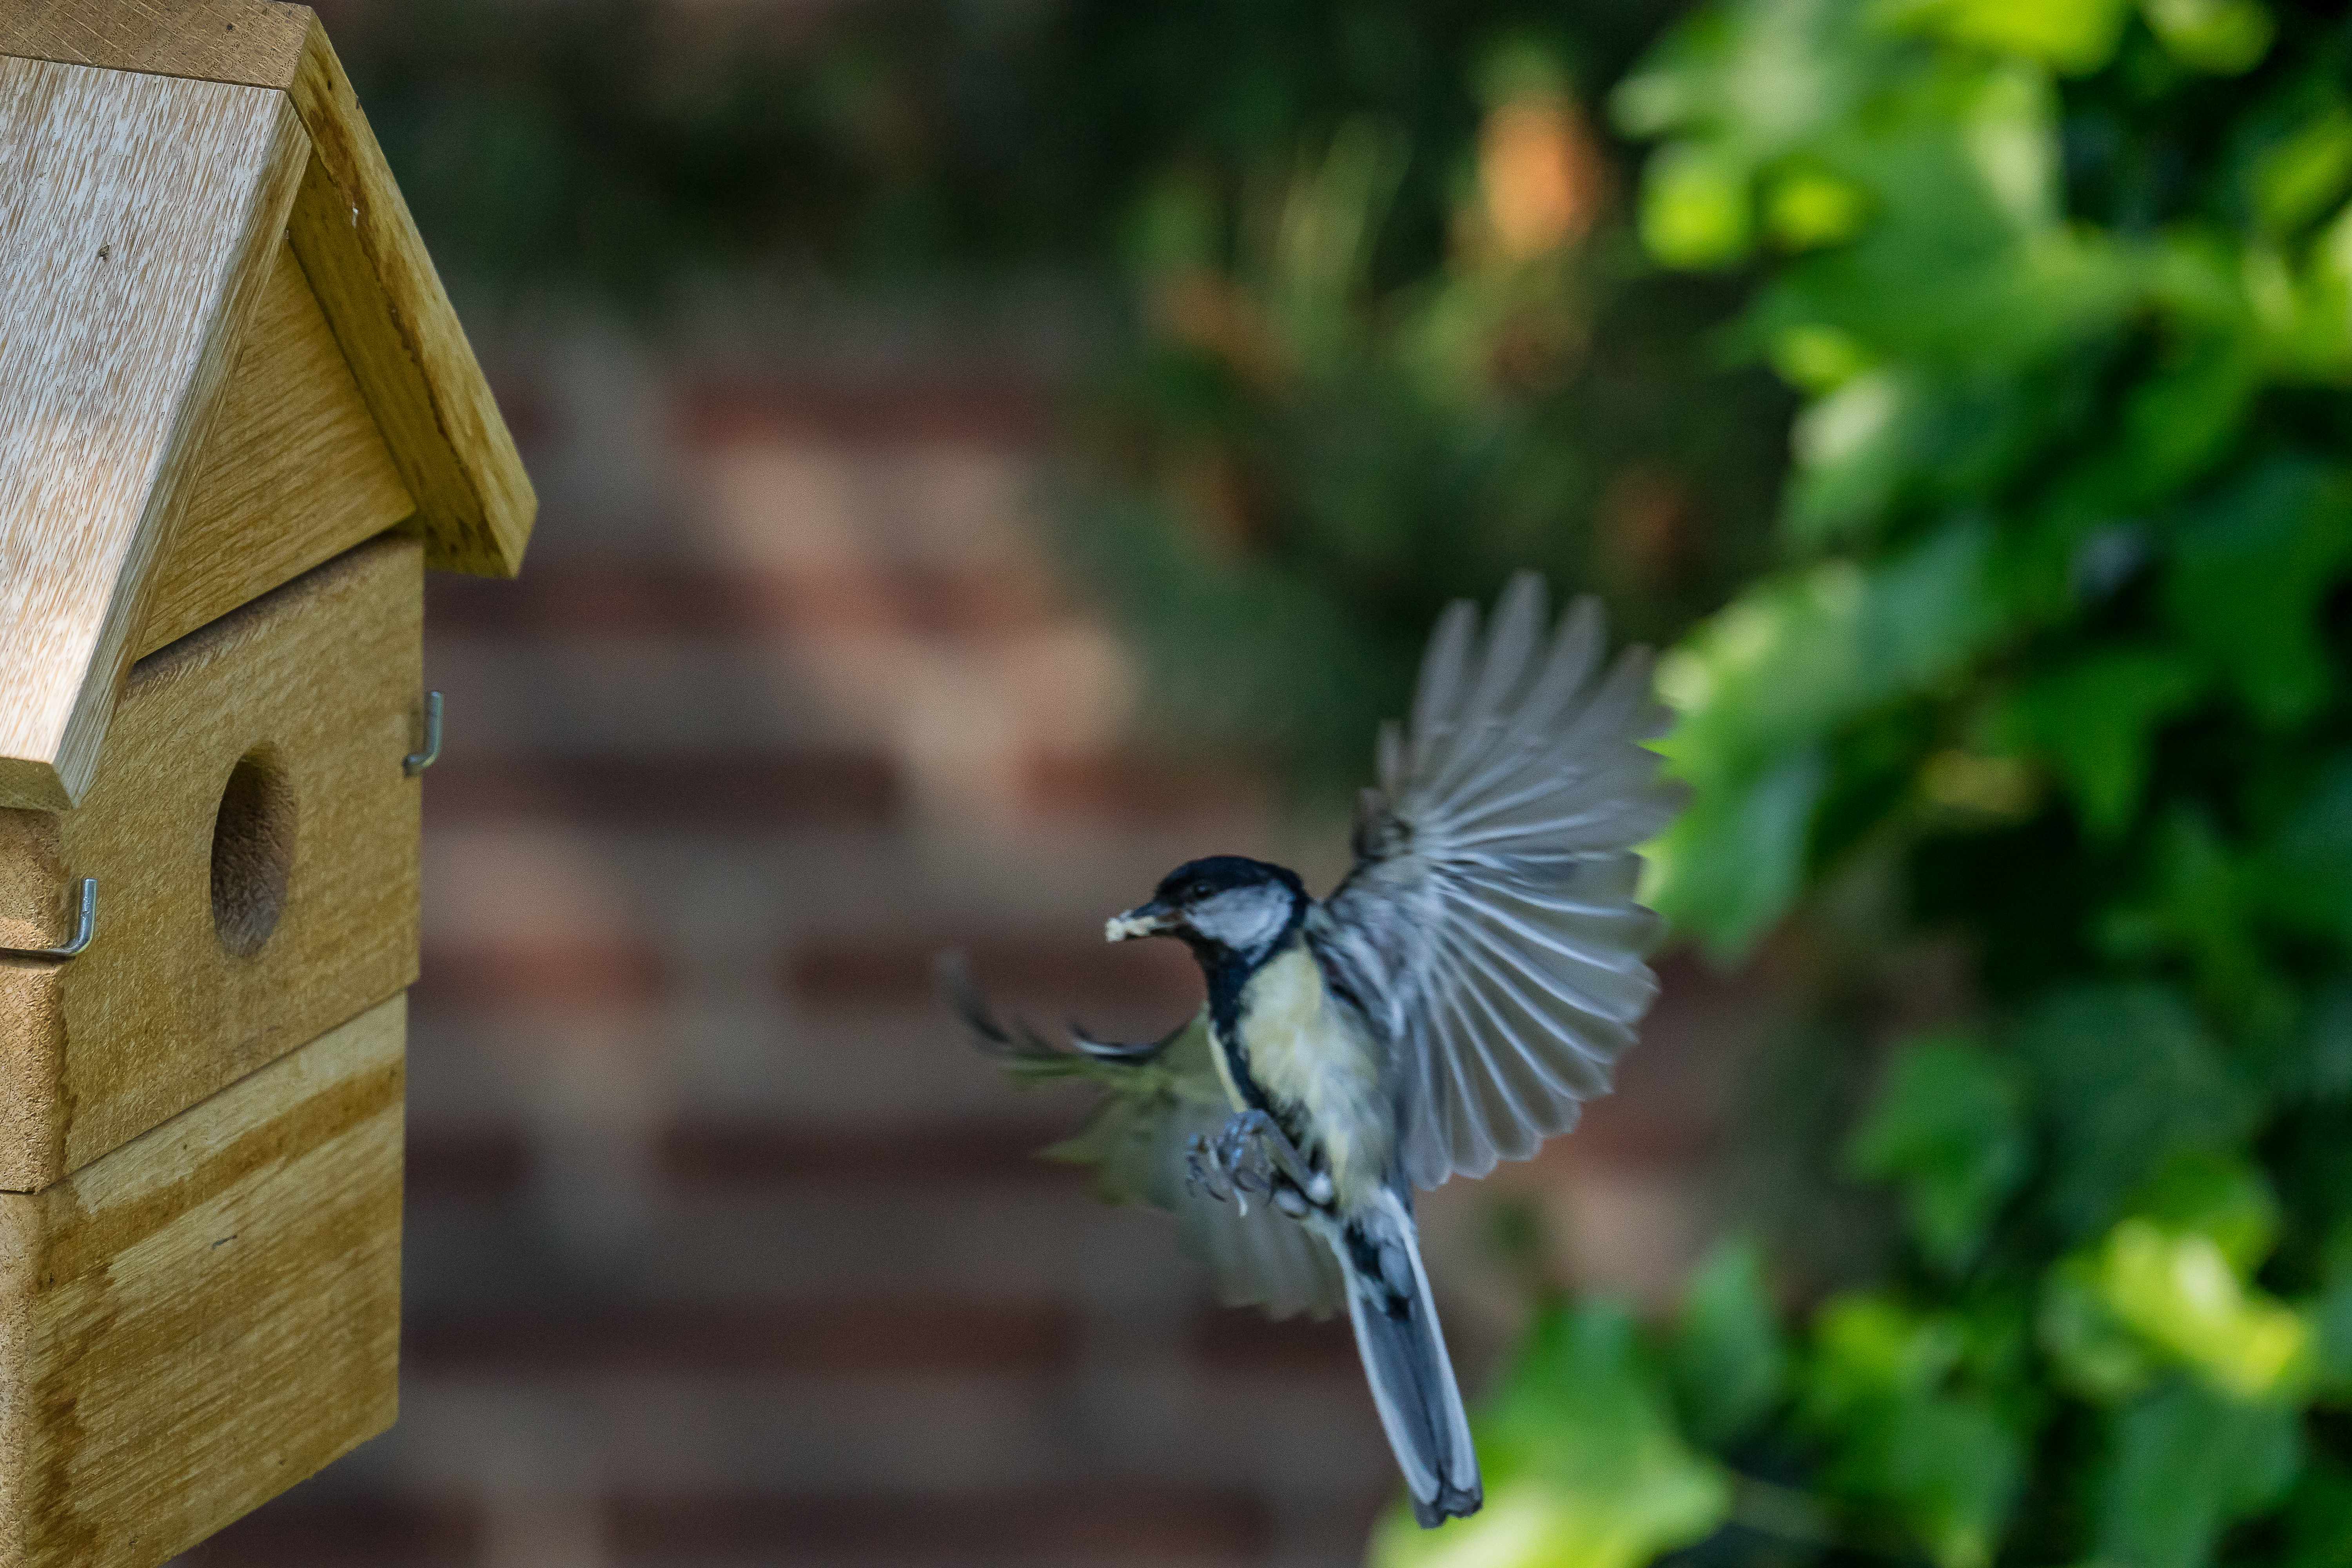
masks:
<path id="1" fill-rule="evenodd" d="M 2279 458 L 2178 529 L 2164 609 L 2258 719 L 2293 724 L 2326 701 L 2319 602 L 2347 562 L 2352 508 L 2340 475 Z"/>

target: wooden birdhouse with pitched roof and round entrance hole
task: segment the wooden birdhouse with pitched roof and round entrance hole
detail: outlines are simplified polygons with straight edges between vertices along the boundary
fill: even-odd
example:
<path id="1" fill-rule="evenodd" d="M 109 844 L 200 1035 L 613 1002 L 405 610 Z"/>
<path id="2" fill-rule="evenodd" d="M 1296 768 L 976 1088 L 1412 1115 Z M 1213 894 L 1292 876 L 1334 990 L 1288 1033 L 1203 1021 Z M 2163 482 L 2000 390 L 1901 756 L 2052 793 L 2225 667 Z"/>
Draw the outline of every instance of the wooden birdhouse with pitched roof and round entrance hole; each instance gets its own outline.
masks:
<path id="1" fill-rule="evenodd" d="M 390 1425 L 423 571 L 534 508 L 306 7 L 0 0 L 0 1568 Z"/>

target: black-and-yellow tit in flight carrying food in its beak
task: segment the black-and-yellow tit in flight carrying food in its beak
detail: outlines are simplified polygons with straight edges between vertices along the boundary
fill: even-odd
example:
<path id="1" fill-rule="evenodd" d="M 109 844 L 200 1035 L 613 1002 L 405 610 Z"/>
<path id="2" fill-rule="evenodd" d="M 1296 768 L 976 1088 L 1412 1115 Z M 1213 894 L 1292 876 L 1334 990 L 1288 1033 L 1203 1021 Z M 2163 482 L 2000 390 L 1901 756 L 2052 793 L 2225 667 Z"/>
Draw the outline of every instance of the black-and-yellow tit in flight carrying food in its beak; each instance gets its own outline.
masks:
<path id="1" fill-rule="evenodd" d="M 1414 1516 L 1484 1490 L 1414 1227 L 1414 1190 L 1526 1159 L 1609 1088 L 1658 983 L 1639 856 L 1679 809 L 1642 741 L 1665 729 L 1649 651 L 1604 665 L 1602 611 L 1548 625 L 1522 574 L 1486 635 L 1437 621 L 1406 726 L 1385 724 L 1355 867 L 1329 898 L 1279 865 L 1178 865 L 1105 936 L 1171 936 L 1209 999 L 1162 1039 L 997 1023 L 957 959 L 943 980 L 1021 1079 L 1108 1093 L 1051 1154 L 1103 1197 L 1176 1215 L 1228 1305 L 1345 1305 Z"/>

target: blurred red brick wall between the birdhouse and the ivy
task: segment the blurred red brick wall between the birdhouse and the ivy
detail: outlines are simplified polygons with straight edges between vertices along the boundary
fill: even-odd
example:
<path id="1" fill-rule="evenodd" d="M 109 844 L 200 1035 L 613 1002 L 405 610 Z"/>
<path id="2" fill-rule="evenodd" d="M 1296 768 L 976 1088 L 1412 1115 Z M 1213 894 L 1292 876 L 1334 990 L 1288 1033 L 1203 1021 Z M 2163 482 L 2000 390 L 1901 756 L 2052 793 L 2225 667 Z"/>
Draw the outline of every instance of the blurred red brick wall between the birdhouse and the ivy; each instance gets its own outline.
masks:
<path id="1" fill-rule="evenodd" d="M 510 355 L 546 510 L 437 578 L 402 1420 L 191 1563 L 1341 1563 L 1390 1467 L 1341 1326 L 1207 1305 L 1155 1215 L 1030 1159 L 929 992 L 1157 1030 L 1105 912 L 1289 853 L 1235 769 L 1136 762 L 1134 670 L 1035 527 L 1040 400 Z M 1505 1180 L 1562 1267 L 1658 1288 L 1712 1044 L 1677 971 L 1628 1093 Z M 1515 1295 L 1430 1201 L 1477 1380 Z"/>

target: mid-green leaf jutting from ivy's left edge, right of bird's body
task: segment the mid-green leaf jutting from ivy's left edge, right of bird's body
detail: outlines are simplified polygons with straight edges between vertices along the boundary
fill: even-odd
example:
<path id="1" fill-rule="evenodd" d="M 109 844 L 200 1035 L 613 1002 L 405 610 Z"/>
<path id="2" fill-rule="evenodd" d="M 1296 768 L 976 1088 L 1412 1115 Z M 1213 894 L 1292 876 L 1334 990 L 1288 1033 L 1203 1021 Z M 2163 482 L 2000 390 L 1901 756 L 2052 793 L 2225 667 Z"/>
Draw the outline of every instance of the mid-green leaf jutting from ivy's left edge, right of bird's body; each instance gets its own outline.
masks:
<path id="1" fill-rule="evenodd" d="M 1919 1251 L 1945 1269 L 1976 1255 L 1985 1225 L 2025 1178 L 2016 1063 L 1966 1037 L 1915 1041 L 1889 1063 L 1849 1164 L 1900 1182 Z"/>

